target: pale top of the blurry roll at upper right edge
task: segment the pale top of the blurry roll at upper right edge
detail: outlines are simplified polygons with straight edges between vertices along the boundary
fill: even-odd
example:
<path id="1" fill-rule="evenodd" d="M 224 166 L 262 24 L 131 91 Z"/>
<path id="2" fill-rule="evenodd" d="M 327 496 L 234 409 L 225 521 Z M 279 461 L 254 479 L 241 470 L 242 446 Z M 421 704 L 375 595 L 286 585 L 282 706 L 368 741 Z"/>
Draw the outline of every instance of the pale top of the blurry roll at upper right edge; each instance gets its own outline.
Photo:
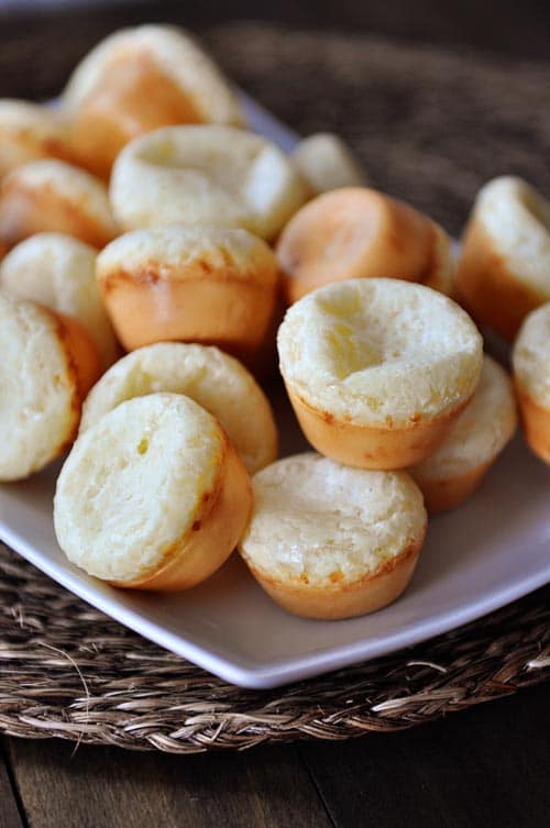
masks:
<path id="1" fill-rule="evenodd" d="M 550 298 L 550 203 L 521 178 L 502 176 L 477 194 L 474 218 L 516 278 Z"/>

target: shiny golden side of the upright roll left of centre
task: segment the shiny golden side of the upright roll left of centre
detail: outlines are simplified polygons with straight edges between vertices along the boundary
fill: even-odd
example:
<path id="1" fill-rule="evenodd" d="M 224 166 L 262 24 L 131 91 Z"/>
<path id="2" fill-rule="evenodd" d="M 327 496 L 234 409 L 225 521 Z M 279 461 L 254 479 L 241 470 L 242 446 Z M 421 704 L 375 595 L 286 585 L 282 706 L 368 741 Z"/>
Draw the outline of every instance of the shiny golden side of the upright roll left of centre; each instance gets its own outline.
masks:
<path id="1" fill-rule="evenodd" d="M 154 342 L 199 342 L 245 361 L 268 334 L 277 291 L 276 285 L 205 275 L 183 280 L 107 277 L 99 288 L 129 351 Z"/>

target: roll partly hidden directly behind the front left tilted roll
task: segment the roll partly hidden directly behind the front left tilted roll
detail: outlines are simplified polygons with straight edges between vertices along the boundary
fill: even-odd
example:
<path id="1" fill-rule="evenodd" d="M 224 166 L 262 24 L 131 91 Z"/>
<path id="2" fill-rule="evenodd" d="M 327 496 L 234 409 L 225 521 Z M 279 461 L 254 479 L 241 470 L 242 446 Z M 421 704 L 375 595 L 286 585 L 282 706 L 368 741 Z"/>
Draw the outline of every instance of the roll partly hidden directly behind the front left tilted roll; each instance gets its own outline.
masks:
<path id="1" fill-rule="evenodd" d="M 89 393 L 80 433 L 127 399 L 186 394 L 217 418 L 251 474 L 277 456 L 271 406 L 251 374 L 217 347 L 161 342 L 127 354 Z"/>

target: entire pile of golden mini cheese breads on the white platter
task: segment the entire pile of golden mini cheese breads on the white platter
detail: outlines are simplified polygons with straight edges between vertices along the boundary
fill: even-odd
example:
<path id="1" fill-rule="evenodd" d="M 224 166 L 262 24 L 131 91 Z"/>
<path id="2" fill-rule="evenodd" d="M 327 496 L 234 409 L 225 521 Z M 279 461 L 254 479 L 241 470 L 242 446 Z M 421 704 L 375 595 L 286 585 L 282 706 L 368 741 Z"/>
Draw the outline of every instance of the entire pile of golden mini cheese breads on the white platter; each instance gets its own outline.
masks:
<path id="1" fill-rule="evenodd" d="M 0 481 L 70 450 L 73 563 L 183 590 L 239 548 L 284 608 L 346 618 L 407 587 L 516 397 L 550 463 L 550 207 L 490 183 L 457 265 L 433 219 L 367 184 L 336 135 L 287 156 L 250 131 L 170 26 L 108 37 L 55 109 L 0 101 Z M 519 329 L 514 382 L 477 324 Z M 276 347 L 316 450 L 284 460 L 257 379 Z"/>

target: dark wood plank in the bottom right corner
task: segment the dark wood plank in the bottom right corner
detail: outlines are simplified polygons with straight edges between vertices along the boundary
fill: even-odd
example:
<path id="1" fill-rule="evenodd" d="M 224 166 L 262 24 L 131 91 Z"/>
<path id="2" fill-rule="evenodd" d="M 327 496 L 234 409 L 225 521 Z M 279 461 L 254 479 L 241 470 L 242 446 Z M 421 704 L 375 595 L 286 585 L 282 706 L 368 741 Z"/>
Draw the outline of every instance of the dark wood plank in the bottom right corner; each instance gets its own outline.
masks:
<path id="1" fill-rule="evenodd" d="M 300 751 L 338 828 L 548 828 L 548 685 L 398 733 Z"/>

